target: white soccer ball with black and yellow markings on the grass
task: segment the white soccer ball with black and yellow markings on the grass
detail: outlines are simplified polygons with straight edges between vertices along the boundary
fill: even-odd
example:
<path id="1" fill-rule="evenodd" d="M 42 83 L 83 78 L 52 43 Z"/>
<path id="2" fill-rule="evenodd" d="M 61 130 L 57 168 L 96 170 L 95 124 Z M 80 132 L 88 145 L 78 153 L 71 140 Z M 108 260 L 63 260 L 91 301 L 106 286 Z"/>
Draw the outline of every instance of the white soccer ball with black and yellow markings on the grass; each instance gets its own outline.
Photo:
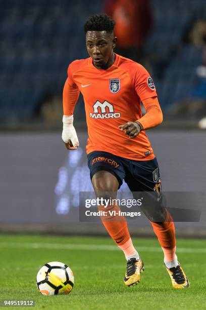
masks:
<path id="1" fill-rule="evenodd" d="M 74 285 L 74 275 L 64 263 L 48 262 L 39 269 L 36 285 L 42 295 L 69 294 Z"/>

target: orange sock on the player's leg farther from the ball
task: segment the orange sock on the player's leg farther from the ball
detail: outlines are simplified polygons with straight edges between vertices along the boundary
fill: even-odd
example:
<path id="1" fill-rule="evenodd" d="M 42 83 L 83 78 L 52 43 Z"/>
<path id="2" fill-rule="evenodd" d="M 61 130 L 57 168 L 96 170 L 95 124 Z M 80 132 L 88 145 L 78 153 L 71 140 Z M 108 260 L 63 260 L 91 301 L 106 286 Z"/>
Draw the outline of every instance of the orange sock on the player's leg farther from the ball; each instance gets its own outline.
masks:
<path id="1" fill-rule="evenodd" d="M 163 249 L 164 260 L 172 261 L 176 259 L 175 225 L 170 213 L 168 211 L 166 212 L 165 222 L 159 224 L 150 221 L 150 223 Z"/>

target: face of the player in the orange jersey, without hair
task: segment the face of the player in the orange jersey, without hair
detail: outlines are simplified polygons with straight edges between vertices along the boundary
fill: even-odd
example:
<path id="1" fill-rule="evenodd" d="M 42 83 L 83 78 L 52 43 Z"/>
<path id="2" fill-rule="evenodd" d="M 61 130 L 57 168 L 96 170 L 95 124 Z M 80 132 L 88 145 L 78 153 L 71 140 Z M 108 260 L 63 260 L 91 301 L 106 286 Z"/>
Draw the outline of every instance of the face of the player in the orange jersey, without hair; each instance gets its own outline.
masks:
<path id="1" fill-rule="evenodd" d="M 107 69 L 113 64 L 113 49 L 116 43 L 117 37 L 107 31 L 87 31 L 87 52 L 97 69 Z"/>

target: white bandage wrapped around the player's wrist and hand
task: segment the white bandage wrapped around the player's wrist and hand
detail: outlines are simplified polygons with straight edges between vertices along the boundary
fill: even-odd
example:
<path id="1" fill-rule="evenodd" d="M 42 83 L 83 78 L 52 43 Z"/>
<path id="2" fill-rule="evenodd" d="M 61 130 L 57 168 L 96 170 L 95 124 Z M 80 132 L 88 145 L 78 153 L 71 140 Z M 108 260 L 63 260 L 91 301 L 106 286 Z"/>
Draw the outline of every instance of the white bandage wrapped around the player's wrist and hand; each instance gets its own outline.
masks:
<path id="1" fill-rule="evenodd" d="M 73 146 L 78 147 L 79 141 L 77 138 L 76 130 L 73 126 L 73 115 L 67 116 L 63 115 L 63 131 L 62 131 L 62 140 L 65 143 L 68 143 L 71 140 Z"/>

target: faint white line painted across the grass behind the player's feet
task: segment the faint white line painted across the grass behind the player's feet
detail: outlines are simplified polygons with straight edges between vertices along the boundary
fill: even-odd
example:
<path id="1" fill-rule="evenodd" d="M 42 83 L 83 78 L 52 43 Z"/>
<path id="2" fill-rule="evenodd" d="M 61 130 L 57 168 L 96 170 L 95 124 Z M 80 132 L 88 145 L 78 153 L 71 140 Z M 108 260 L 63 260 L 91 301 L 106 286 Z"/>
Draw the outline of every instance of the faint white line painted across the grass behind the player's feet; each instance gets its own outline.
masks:
<path id="1" fill-rule="evenodd" d="M 23 249 L 48 249 L 48 250 L 100 250 L 119 251 L 113 245 L 92 245 L 92 244 L 58 244 L 58 243 L 20 243 L 20 242 L 0 242 L 0 248 L 23 248 Z M 142 252 L 162 252 L 161 247 L 136 246 Z M 206 253 L 206 248 L 178 248 L 178 253 Z"/>

